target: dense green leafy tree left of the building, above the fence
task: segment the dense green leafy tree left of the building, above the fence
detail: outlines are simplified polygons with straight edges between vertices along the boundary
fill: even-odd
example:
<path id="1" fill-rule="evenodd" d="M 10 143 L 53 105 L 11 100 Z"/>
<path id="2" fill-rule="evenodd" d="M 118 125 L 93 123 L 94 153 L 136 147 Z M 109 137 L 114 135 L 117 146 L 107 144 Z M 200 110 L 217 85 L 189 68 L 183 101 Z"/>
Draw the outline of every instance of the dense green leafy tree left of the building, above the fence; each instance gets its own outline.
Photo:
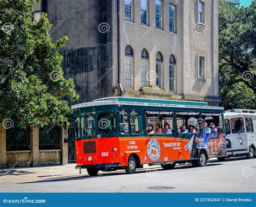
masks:
<path id="1" fill-rule="evenodd" d="M 0 118 L 17 119 L 21 127 L 62 125 L 69 101 L 78 99 L 58 53 L 68 37 L 52 43 L 46 14 L 31 20 L 31 0 L 0 1 L 0 8 Z"/>

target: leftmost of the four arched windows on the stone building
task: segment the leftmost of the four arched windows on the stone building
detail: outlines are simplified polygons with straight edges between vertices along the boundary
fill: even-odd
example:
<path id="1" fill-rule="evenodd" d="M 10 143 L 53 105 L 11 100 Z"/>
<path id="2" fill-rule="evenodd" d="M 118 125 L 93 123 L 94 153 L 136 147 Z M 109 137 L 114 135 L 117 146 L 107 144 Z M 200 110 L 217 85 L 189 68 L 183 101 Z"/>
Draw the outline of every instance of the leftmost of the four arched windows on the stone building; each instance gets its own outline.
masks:
<path id="1" fill-rule="evenodd" d="M 132 61 L 133 60 L 133 51 L 131 46 L 127 45 L 125 47 L 125 86 L 132 87 Z"/>

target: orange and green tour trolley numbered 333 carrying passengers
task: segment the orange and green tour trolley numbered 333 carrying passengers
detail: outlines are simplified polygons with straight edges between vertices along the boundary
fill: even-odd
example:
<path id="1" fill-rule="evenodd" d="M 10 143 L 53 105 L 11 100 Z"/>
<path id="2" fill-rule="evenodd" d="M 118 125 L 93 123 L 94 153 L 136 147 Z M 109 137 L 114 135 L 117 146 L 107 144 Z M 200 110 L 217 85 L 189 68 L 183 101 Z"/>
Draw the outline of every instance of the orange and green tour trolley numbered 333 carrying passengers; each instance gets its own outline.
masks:
<path id="1" fill-rule="evenodd" d="M 99 170 L 125 169 L 143 164 L 172 169 L 176 163 L 206 165 L 211 157 L 226 157 L 222 107 L 206 102 L 111 97 L 72 106 L 75 116 L 76 168 L 89 175 Z M 147 134 L 147 125 L 169 123 L 172 134 Z M 219 125 L 203 133 L 203 123 Z M 199 125 L 200 132 L 182 134 L 180 126 Z"/>

